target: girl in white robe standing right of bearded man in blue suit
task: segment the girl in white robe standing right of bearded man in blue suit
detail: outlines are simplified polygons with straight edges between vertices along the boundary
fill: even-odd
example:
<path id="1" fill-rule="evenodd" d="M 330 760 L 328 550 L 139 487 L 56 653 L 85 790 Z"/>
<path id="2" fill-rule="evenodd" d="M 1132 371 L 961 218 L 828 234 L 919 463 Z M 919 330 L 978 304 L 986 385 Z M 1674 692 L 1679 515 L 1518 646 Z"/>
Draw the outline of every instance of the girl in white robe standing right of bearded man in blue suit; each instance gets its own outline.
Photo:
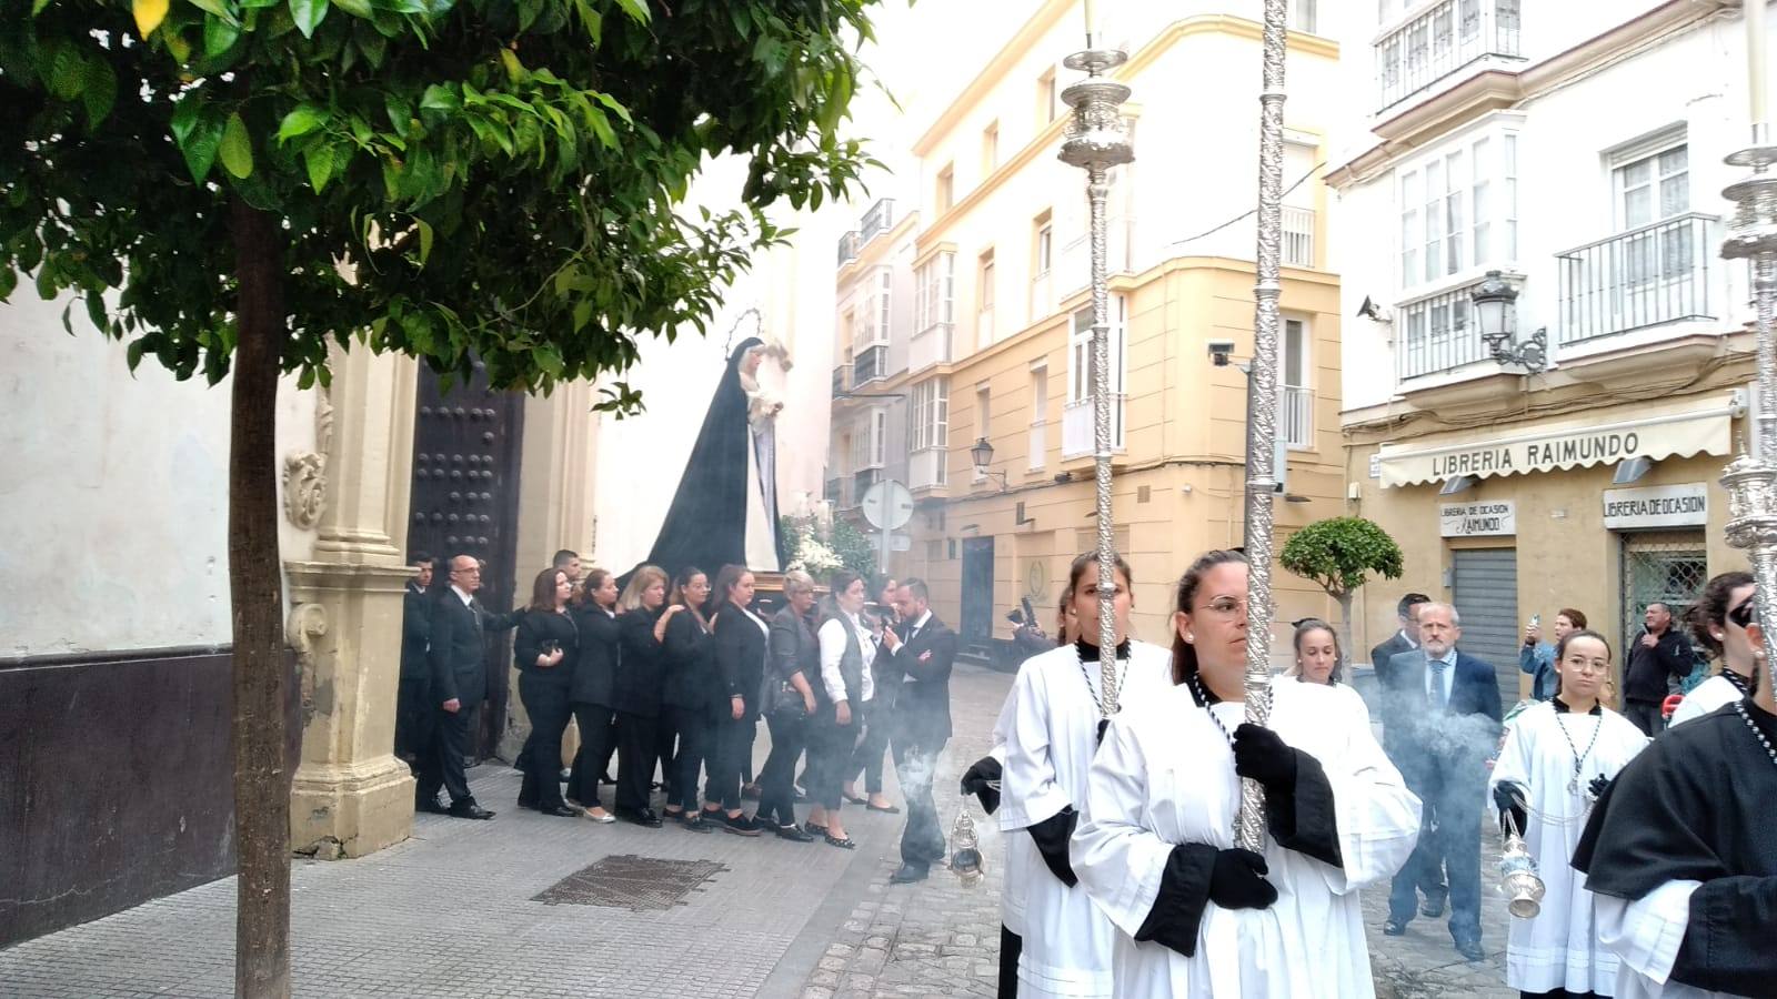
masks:
<path id="1" fill-rule="evenodd" d="M 1505 983 L 1526 999 L 1615 995 L 1617 955 L 1598 940 L 1585 875 L 1567 860 L 1585 814 L 1647 736 L 1598 702 L 1610 675 L 1610 643 L 1596 631 L 1569 631 L 1555 647 L 1560 686 L 1551 700 L 1518 713 L 1493 768 L 1500 818 L 1523 832 L 1542 876 L 1542 912 L 1512 919 Z"/>

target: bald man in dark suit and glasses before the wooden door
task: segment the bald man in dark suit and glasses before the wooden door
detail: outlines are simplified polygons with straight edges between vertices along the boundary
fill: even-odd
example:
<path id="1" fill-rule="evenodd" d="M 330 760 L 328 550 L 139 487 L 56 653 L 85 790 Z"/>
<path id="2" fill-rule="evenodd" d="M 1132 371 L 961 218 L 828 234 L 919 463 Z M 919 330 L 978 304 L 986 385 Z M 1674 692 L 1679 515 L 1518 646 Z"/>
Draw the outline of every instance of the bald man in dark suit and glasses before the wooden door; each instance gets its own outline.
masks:
<path id="1" fill-rule="evenodd" d="M 448 587 L 432 601 L 432 752 L 419 773 L 418 807 L 446 812 L 460 819 L 490 819 L 469 793 L 462 757 L 469 752 L 469 709 L 487 697 L 485 645 L 482 635 L 512 627 L 512 615 L 489 613 L 476 599 L 482 565 L 473 555 L 450 560 Z M 450 795 L 450 807 L 437 800 L 439 787 Z"/>

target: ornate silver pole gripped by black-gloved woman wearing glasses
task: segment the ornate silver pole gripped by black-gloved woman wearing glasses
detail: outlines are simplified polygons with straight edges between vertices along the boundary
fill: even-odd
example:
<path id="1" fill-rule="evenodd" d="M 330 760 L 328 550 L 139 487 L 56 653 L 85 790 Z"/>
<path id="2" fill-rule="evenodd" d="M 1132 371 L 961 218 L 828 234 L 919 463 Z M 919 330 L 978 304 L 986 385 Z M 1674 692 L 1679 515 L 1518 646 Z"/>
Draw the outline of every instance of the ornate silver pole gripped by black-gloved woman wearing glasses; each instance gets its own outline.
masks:
<path id="1" fill-rule="evenodd" d="M 1258 281 L 1253 318 L 1253 368 L 1247 373 L 1246 421 L 1246 558 L 1251 563 L 1246 624 L 1246 720 L 1271 720 L 1271 503 L 1278 444 L 1278 297 L 1283 293 L 1283 57 L 1285 0 L 1265 0 L 1265 80 L 1258 94 Z M 1265 789 L 1240 780 L 1235 841 L 1265 848 Z"/>

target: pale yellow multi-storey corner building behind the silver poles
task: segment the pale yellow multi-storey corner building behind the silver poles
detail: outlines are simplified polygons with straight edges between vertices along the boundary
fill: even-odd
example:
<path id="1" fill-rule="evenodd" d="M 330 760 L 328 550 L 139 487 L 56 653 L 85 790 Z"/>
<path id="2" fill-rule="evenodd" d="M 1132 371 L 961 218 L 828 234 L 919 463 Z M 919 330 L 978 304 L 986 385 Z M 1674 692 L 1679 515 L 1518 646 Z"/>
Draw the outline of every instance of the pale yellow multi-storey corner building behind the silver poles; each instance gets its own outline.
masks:
<path id="1" fill-rule="evenodd" d="M 1136 148 L 1111 178 L 1114 510 L 1136 631 L 1166 643 L 1178 574 L 1240 544 L 1246 380 L 1208 343 L 1251 356 L 1260 23 L 1258 4 L 1143 7 L 1109 39 L 1130 53 L 1116 76 L 1134 89 Z M 1340 286 L 1313 178 L 1338 48 L 1304 11 L 1290 34 L 1281 533 L 1343 510 Z M 828 498 L 846 512 L 878 478 L 912 489 L 888 569 L 924 578 L 981 656 L 1020 599 L 1048 626 L 1070 560 L 1095 546 L 1086 185 L 1056 158 L 1077 25 L 1057 0 L 1018 27 L 915 144 L 917 215 L 867 219 L 841 244 Z M 1281 620 L 1333 611 L 1317 587 L 1278 579 Z"/>

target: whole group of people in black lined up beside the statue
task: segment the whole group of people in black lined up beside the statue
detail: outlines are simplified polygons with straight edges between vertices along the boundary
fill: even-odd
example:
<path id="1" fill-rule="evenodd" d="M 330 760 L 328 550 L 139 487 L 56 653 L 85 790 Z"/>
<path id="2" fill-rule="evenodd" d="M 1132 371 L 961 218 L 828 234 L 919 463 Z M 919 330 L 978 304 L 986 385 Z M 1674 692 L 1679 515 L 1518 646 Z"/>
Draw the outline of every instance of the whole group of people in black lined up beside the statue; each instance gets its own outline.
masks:
<path id="1" fill-rule="evenodd" d="M 519 807 L 851 850 L 842 805 L 901 811 L 883 795 L 892 755 L 908 812 L 894 880 L 922 880 L 942 860 L 931 777 L 951 738 L 956 635 L 931 613 L 924 581 L 887 579 L 873 604 L 857 572 L 833 572 L 821 597 L 814 578 L 791 571 L 782 604 L 768 608 L 745 565 L 714 576 L 641 565 L 618 587 L 610 571 L 581 572 L 579 556 L 562 551 L 537 574 L 530 601 L 499 613 L 476 599 L 476 558 L 434 565 L 416 555 L 414 565 L 396 754 L 416 770 L 418 811 L 494 818 L 466 764 L 474 713 L 499 700 L 490 688 L 506 675 L 485 667 L 485 636 L 512 629 L 530 718 L 515 761 Z M 771 745 L 755 773 L 761 720 Z M 570 722 L 579 748 L 563 768 Z M 604 786 L 615 786 L 610 811 Z M 757 800 L 752 814 L 746 800 Z"/>

